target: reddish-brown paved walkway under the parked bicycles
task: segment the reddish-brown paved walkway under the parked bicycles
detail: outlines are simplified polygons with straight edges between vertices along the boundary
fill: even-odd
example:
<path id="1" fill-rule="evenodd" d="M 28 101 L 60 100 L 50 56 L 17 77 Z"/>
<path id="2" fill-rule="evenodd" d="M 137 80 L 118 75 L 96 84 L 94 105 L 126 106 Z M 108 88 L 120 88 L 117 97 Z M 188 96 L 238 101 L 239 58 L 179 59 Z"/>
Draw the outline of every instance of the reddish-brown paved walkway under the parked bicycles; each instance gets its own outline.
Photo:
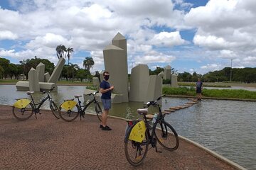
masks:
<path id="1" fill-rule="evenodd" d="M 94 115 L 67 123 L 50 111 L 19 121 L 0 105 L 0 169 L 234 169 L 184 140 L 174 152 L 150 149 L 134 168 L 124 155 L 126 122 L 108 122 L 112 131 L 102 131 Z"/>

